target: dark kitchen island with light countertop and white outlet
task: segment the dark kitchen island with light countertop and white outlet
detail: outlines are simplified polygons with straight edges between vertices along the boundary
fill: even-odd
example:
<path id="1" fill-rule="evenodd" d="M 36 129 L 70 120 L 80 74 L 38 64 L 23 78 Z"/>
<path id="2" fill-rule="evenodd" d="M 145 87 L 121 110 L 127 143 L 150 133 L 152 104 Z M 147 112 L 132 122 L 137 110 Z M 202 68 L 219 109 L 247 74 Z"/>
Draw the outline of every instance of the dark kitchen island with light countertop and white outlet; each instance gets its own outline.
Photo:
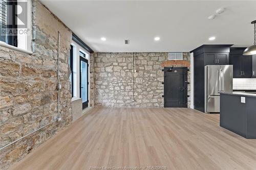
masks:
<path id="1" fill-rule="evenodd" d="M 256 139 L 256 94 L 221 92 L 220 126 L 247 139 Z"/>

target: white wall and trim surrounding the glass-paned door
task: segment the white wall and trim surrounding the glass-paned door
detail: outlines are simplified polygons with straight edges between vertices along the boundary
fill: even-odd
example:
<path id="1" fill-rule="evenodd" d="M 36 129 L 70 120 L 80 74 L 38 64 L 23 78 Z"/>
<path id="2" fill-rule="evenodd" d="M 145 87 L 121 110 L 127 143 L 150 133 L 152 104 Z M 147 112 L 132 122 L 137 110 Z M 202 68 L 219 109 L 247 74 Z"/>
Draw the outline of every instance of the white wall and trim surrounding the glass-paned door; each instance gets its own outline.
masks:
<path id="1" fill-rule="evenodd" d="M 88 106 L 90 106 L 90 53 L 87 52 L 83 47 L 81 47 L 78 43 L 72 40 L 71 45 L 73 45 L 73 98 L 80 98 L 80 57 L 79 57 L 79 52 L 81 51 L 82 53 L 86 54 L 86 59 L 88 60 Z M 73 99 L 74 100 L 74 99 Z"/>

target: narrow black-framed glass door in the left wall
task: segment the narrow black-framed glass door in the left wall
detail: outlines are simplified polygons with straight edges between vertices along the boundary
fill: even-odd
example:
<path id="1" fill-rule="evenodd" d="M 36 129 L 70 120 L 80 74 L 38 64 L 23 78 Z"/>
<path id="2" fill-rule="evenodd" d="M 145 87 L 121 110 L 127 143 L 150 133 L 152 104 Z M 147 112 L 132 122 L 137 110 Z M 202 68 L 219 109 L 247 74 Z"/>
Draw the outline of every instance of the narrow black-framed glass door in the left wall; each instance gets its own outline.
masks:
<path id="1" fill-rule="evenodd" d="M 82 109 L 88 107 L 88 60 L 80 56 L 80 98 Z"/>

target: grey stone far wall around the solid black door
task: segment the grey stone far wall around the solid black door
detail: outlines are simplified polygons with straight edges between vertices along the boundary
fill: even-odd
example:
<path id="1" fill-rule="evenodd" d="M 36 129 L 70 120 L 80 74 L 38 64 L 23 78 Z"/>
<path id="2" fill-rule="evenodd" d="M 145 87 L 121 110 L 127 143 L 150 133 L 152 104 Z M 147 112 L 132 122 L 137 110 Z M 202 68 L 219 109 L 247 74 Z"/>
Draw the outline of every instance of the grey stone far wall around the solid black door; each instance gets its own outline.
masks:
<path id="1" fill-rule="evenodd" d="M 168 53 L 136 53 L 137 72 L 133 75 L 133 53 L 97 53 L 93 58 L 91 93 L 94 93 L 94 105 L 103 107 L 163 107 L 163 66 L 183 66 L 184 63 L 166 65 Z M 190 54 L 183 53 L 183 60 L 190 63 Z"/>

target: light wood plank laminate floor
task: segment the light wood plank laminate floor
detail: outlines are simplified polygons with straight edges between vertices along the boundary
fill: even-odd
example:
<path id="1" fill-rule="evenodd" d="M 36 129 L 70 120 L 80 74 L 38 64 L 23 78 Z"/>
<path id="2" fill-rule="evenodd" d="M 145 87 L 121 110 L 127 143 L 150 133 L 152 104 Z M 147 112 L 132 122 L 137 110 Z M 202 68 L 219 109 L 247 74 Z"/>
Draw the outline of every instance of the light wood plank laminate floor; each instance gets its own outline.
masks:
<path id="1" fill-rule="evenodd" d="M 10 169 L 256 169 L 256 140 L 185 108 L 94 108 Z M 136 169 L 136 168 L 135 168 Z"/>

